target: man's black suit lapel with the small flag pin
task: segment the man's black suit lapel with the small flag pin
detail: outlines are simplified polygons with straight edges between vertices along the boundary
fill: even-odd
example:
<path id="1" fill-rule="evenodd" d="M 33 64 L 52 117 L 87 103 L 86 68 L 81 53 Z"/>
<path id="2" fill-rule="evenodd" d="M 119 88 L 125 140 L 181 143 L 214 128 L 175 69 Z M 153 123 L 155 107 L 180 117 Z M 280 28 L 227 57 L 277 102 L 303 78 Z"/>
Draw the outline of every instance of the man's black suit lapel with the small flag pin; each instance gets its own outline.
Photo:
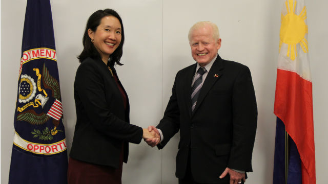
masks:
<path id="1" fill-rule="evenodd" d="M 201 105 L 202 101 L 207 96 L 212 86 L 222 75 L 223 75 L 223 63 L 222 63 L 222 59 L 218 55 L 200 89 L 200 94 L 197 99 L 194 113 L 197 111 L 198 107 Z"/>

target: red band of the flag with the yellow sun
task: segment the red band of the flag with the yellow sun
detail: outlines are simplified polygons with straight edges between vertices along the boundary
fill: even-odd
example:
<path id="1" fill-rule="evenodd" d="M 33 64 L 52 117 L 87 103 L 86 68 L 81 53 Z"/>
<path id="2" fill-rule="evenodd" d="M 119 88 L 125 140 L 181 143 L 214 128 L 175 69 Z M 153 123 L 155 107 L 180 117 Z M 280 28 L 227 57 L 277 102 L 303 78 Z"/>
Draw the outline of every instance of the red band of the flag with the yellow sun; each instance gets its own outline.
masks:
<path id="1" fill-rule="evenodd" d="M 302 160 L 302 183 L 316 183 L 312 82 L 277 70 L 274 113 L 285 124 Z"/>

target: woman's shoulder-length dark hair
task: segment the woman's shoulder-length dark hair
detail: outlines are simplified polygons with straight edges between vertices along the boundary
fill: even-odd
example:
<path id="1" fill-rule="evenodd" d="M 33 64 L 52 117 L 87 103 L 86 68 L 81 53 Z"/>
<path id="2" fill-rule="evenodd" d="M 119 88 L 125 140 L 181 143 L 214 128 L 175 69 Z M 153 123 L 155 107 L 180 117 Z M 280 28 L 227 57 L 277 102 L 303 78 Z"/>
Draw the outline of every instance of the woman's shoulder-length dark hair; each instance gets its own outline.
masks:
<path id="1" fill-rule="evenodd" d="M 86 30 L 83 35 L 83 51 L 77 57 L 79 62 L 82 62 L 87 57 L 91 58 L 100 58 L 100 54 L 98 53 L 97 49 L 94 47 L 93 43 L 91 42 L 91 38 L 88 35 L 88 30 L 91 29 L 92 31 L 96 31 L 97 27 L 100 25 L 100 20 L 106 16 L 114 16 L 116 17 L 120 24 L 121 24 L 121 42 L 119 43 L 117 49 L 110 55 L 110 62 L 108 62 L 109 66 L 114 66 L 114 64 L 122 65 L 120 63 L 120 59 L 123 54 L 123 43 L 124 43 L 124 28 L 121 17 L 115 10 L 112 9 L 105 9 L 105 10 L 98 10 L 94 12 L 88 19 Z"/>

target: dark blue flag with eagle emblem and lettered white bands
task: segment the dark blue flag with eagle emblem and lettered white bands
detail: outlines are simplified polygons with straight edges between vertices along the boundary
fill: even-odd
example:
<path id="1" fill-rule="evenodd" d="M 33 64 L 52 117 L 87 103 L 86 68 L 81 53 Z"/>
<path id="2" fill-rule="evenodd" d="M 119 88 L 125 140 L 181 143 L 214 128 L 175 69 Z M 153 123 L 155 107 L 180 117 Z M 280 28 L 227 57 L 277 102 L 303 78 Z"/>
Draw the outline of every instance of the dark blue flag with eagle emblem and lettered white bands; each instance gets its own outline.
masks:
<path id="1" fill-rule="evenodd" d="M 9 183 L 67 183 L 57 55 L 49 0 L 26 6 Z"/>

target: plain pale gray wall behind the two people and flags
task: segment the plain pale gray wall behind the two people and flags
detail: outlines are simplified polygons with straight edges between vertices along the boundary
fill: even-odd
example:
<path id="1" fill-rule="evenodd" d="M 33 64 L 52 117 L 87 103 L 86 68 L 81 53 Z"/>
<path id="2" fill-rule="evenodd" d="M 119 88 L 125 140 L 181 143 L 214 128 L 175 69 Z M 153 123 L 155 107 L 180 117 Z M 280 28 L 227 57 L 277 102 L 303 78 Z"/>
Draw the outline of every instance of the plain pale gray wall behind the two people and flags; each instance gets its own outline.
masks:
<path id="1" fill-rule="evenodd" d="M 328 56 L 324 48 L 328 1 L 307 1 L 309 48 L 313 79 L 317 183 L 328 170 L 327 82 Z M 276 117 L 273 114 L 278 58 L 279 0 L 56 0 L 51 1 L 68 151 L 75 126 L 73 82 L 82 50 L 87 18 L 95 10 L 112 8 L 121 15 L 126 42 L 122 63 L 116 67 L 130 98 L 131 123 L 156 125 L 171 95 L 174 76 L 194 63 L 188 44 L 196 21 L 215 22 L 222 38 L 219 54 L 251 69 L 258 105 L 258 129 L 253 151 L 253 173 L 248 183 L 272 182 Z M 13 140 L 13 117 L 26 0 L 1 1 L 1 182 L 8 183 Z M 144 83 L 136 85 L 138 81 Z M 175 155 L 178 135 L 162 151 L 145 143 L 130 144 L 123 183 L 177 183 Z M 218 174 L 219 176 L 219 174 Z"/>

